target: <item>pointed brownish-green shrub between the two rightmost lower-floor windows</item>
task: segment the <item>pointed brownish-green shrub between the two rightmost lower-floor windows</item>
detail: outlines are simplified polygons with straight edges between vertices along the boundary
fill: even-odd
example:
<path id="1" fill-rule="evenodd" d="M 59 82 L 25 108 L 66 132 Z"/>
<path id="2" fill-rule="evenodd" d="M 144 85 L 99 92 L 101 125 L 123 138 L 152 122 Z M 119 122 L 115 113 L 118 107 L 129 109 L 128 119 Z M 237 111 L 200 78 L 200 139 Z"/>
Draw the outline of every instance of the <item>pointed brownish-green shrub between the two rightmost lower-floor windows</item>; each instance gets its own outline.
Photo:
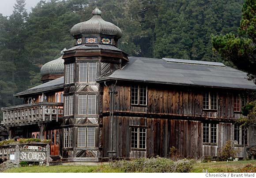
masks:
<path id="1" fill-rule="evenodd" d="M 226 141 L 226 145 L 218 151 L 218 159 L 220 161 L 226 161 L 230 158 L 234 158 L 235 154 L 236 152 L 233 148 L 232 141 L 228 140 Z"/>

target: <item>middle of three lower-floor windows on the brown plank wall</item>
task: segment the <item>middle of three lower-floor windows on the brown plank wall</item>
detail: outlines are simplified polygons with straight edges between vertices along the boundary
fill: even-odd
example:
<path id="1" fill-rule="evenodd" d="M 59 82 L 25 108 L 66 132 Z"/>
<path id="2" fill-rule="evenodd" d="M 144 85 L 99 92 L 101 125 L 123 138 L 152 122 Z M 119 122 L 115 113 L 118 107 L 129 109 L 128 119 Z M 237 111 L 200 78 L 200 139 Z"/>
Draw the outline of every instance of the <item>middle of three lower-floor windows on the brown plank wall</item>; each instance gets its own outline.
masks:
<path id="1" fill-rule="evenodd" d="M 208 128 L 208 129 L 205 130 L 205 128 Z M 215 133 L 215 134 L 212 134 L 212 133 Z M 213 138 L 212 138 L 212 135 L 213 135 Z M 217 145 L 217 143 L 218 143 L 218 124 L 203 122 L 203 144 Z"/>

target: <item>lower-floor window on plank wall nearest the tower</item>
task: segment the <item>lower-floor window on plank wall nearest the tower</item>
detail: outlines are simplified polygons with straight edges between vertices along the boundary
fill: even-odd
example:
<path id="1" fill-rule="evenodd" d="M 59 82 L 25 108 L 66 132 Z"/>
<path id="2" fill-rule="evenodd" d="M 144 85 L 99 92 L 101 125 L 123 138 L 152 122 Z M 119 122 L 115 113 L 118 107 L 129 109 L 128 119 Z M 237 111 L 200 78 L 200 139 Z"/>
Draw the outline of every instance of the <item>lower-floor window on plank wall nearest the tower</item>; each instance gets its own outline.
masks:
<path id="1" fill-rule="evenodd" d="M 131 127 L 131 148 L 146 149 L 146 128 Z"/>

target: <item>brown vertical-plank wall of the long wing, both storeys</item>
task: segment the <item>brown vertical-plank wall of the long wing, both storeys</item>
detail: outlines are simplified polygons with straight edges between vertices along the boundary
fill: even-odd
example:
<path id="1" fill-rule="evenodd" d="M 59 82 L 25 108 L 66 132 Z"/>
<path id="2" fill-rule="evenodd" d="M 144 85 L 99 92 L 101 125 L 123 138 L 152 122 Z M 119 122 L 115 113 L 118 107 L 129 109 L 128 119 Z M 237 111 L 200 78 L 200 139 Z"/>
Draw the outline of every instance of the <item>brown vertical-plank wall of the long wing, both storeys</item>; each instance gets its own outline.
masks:
<path id="1" fill-rule="evenodd" d="M 163 87 L 162 87 L 163 88 Z M 147 107 L 131 105 L 131 85 L 116 85 L 113 117 L 113 150 L 117 157 L 163 156 L 169 157 L 172 146 L 178 148 L 184 158 L 199 159 L 201 156 L 217 156 L 226 141 L 233 140 L 233 119 L 241 114 L 233 112 L 232 91 L 218 93 L 218 110 L 203 111 L 203 93 L 208 90 L 169 87 L 161 89 L 147 86 Z M 211 91 L 214 91 L 211 89 Z M 109 113 L 109 89 L 103 88 L 102 113 Z M 119 113 L 115 116 L 115 113 Z M 122 113 L 124 115 L 122 115 Z M 165 116 L 154 118 L 149 115 Z M 139 117 L 134 117 L 139 115 Z M 143 116 L 144 115 L 144 116 Z M 183 119 L 179 119 L 183 116 Z M 196 119 L 195 119 L 196 118 Z M 217 144 L 203 144 L 203 122 L 218 123 Z M 221 121 L 222 120 L 222 121 Z M 102 157 L 108 157 L 109 116 L 102 119 Z M 145 152 L 130 148 L 130 126 L 147 126 L 147 149 Z M 243 148 L 237 156 L 242 157 Z"/>

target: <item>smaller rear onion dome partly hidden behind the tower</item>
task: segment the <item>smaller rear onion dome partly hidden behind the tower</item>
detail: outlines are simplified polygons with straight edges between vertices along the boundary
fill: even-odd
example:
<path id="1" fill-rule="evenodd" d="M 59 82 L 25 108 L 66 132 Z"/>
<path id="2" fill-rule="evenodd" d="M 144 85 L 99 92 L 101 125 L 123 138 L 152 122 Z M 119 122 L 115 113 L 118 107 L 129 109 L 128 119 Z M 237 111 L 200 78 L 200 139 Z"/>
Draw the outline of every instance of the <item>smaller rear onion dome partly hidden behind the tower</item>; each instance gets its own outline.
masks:
<path id="1" fill-rule="evenodd" d="M 49 82 L 51 80 L 64 76 L 64 59 L 62 59 L 62 57 L 64 55 L 65 50 L 66 48 L 64 48 L 60 52 L 61 56 L 58 59 L 45 63 L 41 67 L 40 74 L 42 76 L 41 81 L 43 83 Z"/>

